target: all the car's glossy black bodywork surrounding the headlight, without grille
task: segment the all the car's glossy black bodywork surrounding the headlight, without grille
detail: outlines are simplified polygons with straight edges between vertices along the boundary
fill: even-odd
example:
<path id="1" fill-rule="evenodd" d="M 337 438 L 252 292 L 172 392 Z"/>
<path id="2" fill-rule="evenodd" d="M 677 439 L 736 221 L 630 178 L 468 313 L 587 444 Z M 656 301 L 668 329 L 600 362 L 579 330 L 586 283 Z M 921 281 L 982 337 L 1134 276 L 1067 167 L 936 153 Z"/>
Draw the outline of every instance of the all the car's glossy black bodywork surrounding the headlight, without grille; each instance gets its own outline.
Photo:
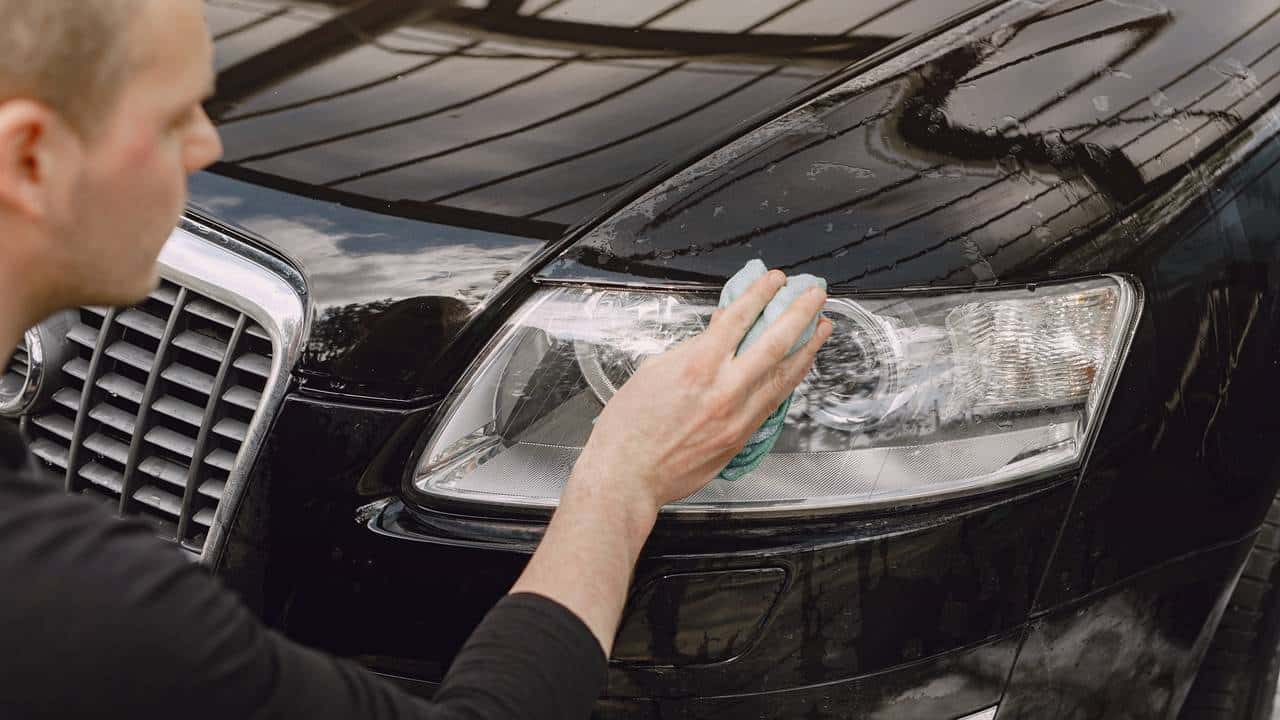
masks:
<path id="1" fill-rule="evenodd" d="M 268 623 L 430 694 L 547 514 L 413 468 L 540 293 L 755 258 L 868 304 L 1120 278 L 1079 460 L 664 515 L 598 716 L 1178 714 L 1280 486 L 1274 3 L 206 6 L 227 160 L 189 218 L 306 286 L 212 562 Z"/>

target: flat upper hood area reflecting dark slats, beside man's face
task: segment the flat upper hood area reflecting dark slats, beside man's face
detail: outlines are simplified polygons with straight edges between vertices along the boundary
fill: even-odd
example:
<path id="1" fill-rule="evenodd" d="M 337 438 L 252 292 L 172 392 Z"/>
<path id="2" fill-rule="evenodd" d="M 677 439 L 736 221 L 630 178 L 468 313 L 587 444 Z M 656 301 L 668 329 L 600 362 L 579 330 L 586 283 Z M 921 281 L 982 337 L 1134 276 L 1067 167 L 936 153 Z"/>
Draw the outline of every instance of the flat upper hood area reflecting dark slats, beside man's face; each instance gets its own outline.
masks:
<path id="1" fill-rule="evenodd" d="M 229 165 L 563 228 L 666 156 L 970 4 L 210 3 L 210 108 Z"/>

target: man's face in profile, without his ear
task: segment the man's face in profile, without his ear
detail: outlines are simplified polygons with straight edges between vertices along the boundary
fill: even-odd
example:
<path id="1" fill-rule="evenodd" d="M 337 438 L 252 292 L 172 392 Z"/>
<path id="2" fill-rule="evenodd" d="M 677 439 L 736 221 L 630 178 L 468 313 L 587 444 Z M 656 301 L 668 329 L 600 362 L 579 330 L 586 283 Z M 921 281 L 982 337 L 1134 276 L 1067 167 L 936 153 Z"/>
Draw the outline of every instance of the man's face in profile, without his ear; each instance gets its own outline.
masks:
<path id="1" fill-rule="evenodd" d="M 221 155 L 201 108 L 212 47 L 198 0 L 150 0 L 118 102 L 83 143 L 58 234 L 79 304 L 127 305 L 155 288 L 156 258 L 187 201 L 187 177 Z"/>

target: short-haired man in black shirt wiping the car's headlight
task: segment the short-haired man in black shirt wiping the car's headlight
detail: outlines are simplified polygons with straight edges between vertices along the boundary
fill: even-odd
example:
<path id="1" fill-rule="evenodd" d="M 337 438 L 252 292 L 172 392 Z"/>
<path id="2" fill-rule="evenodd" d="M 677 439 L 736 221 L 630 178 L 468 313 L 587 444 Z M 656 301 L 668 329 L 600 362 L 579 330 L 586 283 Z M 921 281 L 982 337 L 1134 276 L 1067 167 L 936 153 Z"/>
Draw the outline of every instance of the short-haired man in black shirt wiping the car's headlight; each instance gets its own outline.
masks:
<path id="1" fill-rule="evenodd" d="M 186 177 L 221 147 L 200 0 L 0 0 L 0 361 L 155 287 Z M 262 628 L 138 524 L 37 478 L 0 425 L 0 717 L 585 717 L 658 509 L 722 468 L 829 336 L 812 292 L 740 357 L 781 273 L 609 402 L 529 566 L 433 702 Z"/>

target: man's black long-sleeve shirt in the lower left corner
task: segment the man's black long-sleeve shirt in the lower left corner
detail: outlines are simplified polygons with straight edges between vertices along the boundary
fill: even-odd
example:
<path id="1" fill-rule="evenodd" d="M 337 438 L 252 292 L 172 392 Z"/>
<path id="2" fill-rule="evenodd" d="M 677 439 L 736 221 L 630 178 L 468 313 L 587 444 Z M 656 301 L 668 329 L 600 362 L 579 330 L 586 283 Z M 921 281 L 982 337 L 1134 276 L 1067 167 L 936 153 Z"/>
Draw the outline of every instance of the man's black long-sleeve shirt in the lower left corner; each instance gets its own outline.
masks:
<path id="1" fill-rule="evenodd" d="M 536 594 L 503 598 L 434 700 L 264 628 L 140 523 L 69 496 L 0 423 L 0 717 L 586 717 L 600 644 Z"/>

